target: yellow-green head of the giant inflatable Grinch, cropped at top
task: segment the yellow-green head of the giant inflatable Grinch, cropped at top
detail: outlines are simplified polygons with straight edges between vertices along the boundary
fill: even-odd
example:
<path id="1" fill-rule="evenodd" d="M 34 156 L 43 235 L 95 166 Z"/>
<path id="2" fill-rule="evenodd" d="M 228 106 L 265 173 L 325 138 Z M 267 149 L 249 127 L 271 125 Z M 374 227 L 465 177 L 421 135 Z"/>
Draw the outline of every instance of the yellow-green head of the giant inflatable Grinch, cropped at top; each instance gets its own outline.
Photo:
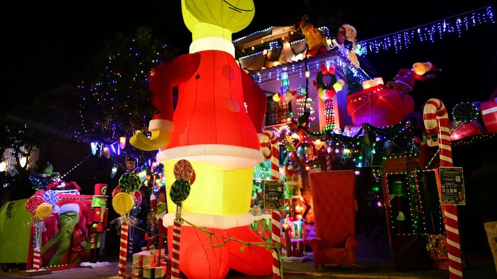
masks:
<path id="1" fill-rule="evenodd" d="M 247 27 L 255 13 L 253 0 L 181 0 L 181 10 L 192 33 L 199 22 L 235 33 Z"/>

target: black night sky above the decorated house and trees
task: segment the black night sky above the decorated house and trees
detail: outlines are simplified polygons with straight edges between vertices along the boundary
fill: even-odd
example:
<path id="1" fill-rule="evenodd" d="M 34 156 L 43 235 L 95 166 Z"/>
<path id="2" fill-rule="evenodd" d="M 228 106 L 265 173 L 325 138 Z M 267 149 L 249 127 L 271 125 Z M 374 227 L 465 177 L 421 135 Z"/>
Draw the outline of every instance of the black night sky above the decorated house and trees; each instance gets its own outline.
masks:
<path id="1" fill-rule="evenodd" d="M 255 18 L 248 28 L 233 37 L 268 26 L 291 25 L 304 12 L 311 20 L 316 20 L 335 15 L 340 10 L 346 14 L 342 22 L 357 29 L 360 41 L 492 3 L 411 1 L 403 2 L 408 6 L 401 8 L 394 4 L 399 1 L 374 2 L 378 1 L 359 4 L 359 1 L 255 0 Z M 18 13 L 16 20 L 2 22 L 2 45 L 6 47 L 3 54 L 7 61 L 4 79 L 7 90 L 2 94 L 6 96 L 6 102 L 1 102 L 2 108 L 8 107 L 12 101 L 27 102 L 63 83 L 77 85 L 81 73 L 104 40 L 112 38 L 115 33 L 148 26 L 156 37 L 164 38 L 168 45 L 179 48 L 180 53 L 186 53 L 191 42 L 191 34 L 181 19 L 179 0 L 133 4 L 121 1 L 45 1 L 14 5 L 19 6 L 11 10 L 22 12 Z M 495 6 L 493 10 L 497 12 Z M 400 68 L 410 68 L 414 62 L 430 61 L 442 68 L 444 71 L 437 77 L 437 82 L 420 86 L 422 94 L 414 97 L 418 103 L 424 103 L 435 95 L 447 99 L 449 108 L 456 101 L 483 101 L 496 86 L 496 71 L 492 74 L 496 59 L 496 30 L 497 24 L 476 26 L 464 32 L 461 38 L 449 35 L 435 43 L 418 44 L 398 54 L 386 51 L 369 55 L 367 59 L 385 81 Z"/>

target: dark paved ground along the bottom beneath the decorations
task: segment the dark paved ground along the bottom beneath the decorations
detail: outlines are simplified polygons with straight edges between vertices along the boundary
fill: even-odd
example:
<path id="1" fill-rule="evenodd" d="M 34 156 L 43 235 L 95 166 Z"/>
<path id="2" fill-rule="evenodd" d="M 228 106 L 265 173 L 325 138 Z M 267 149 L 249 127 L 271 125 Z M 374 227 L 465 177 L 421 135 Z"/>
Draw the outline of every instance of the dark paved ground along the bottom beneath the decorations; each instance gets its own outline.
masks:
<path id="1" fill-rule="evenodd" d="M 496 279 L 497 274 L 491 259 L 488 256 L 477 256 L 464 268 L 465 279 Z M 131 263 L 128 263 L 131 267 Z M 390 267 L 389 262 L 364 262 L 359 261 L 352 270 L 351 267 L 326 266 L 319 267 L 316 272 L 314 263 L 308 262 L 285 262 L 285 279 L 308 279 L 308 278 L 348 278 L 348 279 L 446 279 L 448 271 L 443 270 L 415 270 L 397 271 Z M 128 274 L 131 268 L 128 268 Z M 50 275 L 37 276 L 36 279 L 88 279 L 88 278 L 108 278 L 117 275 L 117 263 L 112 262 L 111 266 L 97 269 L 72 269 L 65 271 L 55 271 Z M 18 273 L 1 273 L 3 279 L 19 279 Z M 241 274 L 230 273 L 230 279 L 248 279 L 252 277 Z M 272 277 L 258 277 L 259 279 L 271 279 Z"/>

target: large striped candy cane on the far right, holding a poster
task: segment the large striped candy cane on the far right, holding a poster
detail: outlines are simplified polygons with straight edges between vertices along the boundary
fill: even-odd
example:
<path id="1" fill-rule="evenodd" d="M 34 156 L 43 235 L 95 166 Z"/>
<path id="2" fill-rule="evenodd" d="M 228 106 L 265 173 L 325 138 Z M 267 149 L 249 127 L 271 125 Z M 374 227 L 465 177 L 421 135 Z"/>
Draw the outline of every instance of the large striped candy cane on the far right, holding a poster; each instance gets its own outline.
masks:
<path id="1" fill-rule="evenodd" d="M 440 166 L 452 167 L 452 149 L 450 147 L 449 117 L 442 101 L 432 98 L 424 105 L 424 127 L 428 134 L 438 132 L 438 150 Z M 457 207 L 445 205 L 445 233 L 447 236 L 447 253 L 449 258 L 449 278 L 462 279 L 461 241 L 459 239 L 459 222 Z"/>

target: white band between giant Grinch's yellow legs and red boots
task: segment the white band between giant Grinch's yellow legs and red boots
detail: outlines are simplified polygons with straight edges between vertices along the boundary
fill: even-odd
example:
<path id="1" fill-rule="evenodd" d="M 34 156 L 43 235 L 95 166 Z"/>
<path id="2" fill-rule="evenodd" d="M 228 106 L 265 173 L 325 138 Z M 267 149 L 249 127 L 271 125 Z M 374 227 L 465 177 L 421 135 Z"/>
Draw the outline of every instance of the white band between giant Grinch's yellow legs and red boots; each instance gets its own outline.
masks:
<path id="1" fill-rule="evenodd" d="M 176 213 L 167 213 L 163 216 L 163 225 L 165 227 L 172 226 Z M 201 213 L 181 213 L 181 217 L 188 222 L 207 228 L 229 229 L 234 227 L 242 227 L 253 224 L 253 216 L 250 213 L 239 215 L 212 215 Z M 189 226 L 183 223 L 182 226 Z"/>

